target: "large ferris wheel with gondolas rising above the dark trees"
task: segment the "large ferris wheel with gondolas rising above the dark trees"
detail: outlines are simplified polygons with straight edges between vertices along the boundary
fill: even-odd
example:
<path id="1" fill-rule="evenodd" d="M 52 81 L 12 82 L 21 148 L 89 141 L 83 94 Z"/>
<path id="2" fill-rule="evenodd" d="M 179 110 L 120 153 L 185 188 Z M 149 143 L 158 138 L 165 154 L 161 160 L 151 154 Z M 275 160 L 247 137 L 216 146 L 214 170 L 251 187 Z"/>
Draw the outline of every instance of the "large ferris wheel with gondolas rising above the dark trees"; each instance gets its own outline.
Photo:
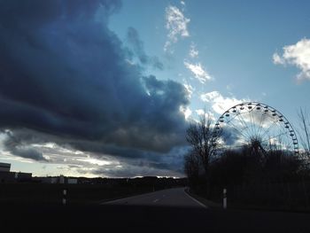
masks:
<path id="1" fill-rule="evenodd" d="M 264 155 L 283 151 L 298 156 L 298 139 L 289 120 L 275 108 L 259 102 L 229 108 L 216 121 L 212 140 L 215 156 L 244 147 Z"/>

